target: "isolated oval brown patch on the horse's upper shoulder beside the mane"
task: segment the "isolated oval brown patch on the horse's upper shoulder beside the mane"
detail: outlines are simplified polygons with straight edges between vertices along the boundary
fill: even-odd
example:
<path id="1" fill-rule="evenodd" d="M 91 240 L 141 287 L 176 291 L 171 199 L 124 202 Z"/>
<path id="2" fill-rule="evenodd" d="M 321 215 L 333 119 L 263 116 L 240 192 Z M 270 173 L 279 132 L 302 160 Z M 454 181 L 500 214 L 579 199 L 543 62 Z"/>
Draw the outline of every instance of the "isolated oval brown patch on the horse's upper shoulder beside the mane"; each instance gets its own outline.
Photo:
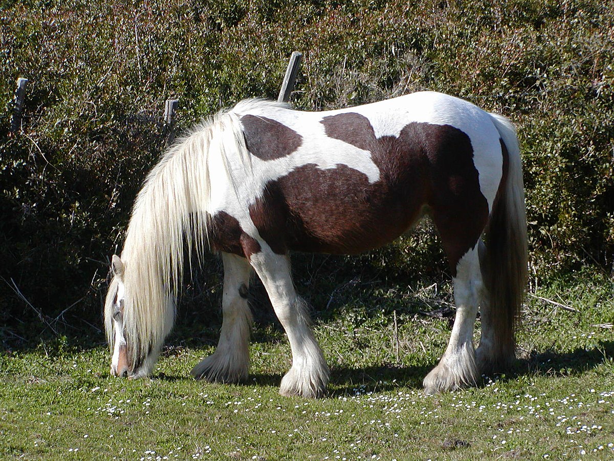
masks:
<path id="1" fill-rule="evenodd" d="M 300 148 L 303 136 L 266 117 L 241 117 L 247 150 L 262 160 L 281 159 Z"/>

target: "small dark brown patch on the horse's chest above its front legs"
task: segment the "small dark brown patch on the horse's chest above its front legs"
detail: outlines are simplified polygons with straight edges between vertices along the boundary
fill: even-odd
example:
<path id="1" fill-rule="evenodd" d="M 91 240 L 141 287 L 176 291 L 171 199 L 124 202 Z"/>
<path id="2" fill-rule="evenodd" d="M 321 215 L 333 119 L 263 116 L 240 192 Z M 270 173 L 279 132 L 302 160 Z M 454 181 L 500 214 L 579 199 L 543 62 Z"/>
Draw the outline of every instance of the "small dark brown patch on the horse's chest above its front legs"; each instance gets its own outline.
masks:
<path id="1" fill-rule="evenodd" d="M 241 229 L 239 221 L 225 211 L 218 211 L 209 223 L 212 250 L 233 253 L 248 259 L 260 251 L 260 243 L 247 235 Z"/>

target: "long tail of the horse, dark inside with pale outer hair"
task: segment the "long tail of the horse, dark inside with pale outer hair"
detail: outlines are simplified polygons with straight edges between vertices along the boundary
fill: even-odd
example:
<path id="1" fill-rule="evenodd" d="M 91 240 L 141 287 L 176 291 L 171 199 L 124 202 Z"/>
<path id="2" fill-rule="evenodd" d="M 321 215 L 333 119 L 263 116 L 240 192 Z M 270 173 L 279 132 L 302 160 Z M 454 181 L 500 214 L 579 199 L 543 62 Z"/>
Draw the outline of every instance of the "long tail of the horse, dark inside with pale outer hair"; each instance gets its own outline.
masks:
<path id="1" fill-rule="evenodd" d="M 494 202 L 486 252 L 481 259 L 494 332 L 491 363 L 487 366 L 502 368 L 515 357 L 515 333 L 528 278 L 527 219 L 516 128 L 505 117 L 491 116 L 501 137 L 504 182 Z"/>

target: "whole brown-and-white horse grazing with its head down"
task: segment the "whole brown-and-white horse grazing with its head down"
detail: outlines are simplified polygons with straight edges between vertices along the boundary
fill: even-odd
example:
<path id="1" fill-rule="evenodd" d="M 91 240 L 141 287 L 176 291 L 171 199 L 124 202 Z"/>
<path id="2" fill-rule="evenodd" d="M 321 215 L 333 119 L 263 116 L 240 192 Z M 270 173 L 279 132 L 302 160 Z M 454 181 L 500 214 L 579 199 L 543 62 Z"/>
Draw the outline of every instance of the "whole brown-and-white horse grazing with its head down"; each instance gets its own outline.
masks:
<path id="1" fill-rule="evenodd" d="M 328 366 L 293 286 L 289 251 L 360 253 L 423 215 L 441 235 L 456 303 L 448 347 L 424 379 L 433 393 L 475 384 L 515 355 L 527 236 L 513 125 L 434 92 L 325 112 L 263 100 L 220 112 L 166 152 L 136 198 L 104 308 L 111 373 L 152 371 L 173 326 L 184 253 L 191 261 L 212 250 L 224 268 L 222 329 L 192 375 L 246 379 L 253 269 L 292 349 L 281 394 L 323 395 Z"/>

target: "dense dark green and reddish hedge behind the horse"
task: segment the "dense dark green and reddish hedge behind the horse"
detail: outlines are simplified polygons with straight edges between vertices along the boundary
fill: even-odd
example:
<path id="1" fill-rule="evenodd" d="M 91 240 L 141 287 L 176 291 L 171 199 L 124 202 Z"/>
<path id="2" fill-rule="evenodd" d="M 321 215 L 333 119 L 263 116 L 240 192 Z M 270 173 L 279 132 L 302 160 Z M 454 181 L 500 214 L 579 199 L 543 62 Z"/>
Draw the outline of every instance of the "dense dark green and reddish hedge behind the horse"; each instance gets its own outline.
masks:
<path id="1" fill-rule="evenodd" d="M 524 152 L 533 272 L 612 270 L 607 4 L 7 0 L 1 11 L 0 321 L 13 331 L 26 334 L 20 321 L 35 315 L 15 286 L 49 320 L 84 297 L 59 320 L 98 324 L 106 261 L 165 146 L 164 101 L 181 99 L 181 130 L 241 98 L 274 98 L 292 50 L 304 53 L 293 95 L 301 109 L 432 89 L 511 117 Z M 23 131 L 10 135 L 17 77 L 30 83 Z M 336 260 L 343 270 L 333 283 L 352 272 L 440 279 L 447 268 L 429 229 Z M 297 278 L 310 279 L 303 268 L 311 270 L 298 264 Z"/>

